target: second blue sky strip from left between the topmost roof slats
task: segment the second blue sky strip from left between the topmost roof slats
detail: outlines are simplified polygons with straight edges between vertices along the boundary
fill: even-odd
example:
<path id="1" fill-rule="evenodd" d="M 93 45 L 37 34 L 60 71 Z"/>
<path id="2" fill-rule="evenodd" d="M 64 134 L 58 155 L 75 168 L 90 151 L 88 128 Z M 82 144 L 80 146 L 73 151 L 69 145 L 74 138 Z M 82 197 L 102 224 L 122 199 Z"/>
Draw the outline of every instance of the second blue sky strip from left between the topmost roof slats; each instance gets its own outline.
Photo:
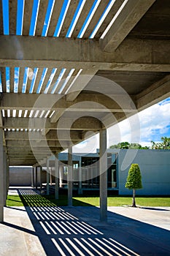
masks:
<path id="1" fill-rule="evenodd" d="M 18 0 L 18 9 L 17 9 L 17 29 L 16 34 L 18 36 L 23 34 L 23 14 L 24 14 L 24 4 L 25 0 Z"/>

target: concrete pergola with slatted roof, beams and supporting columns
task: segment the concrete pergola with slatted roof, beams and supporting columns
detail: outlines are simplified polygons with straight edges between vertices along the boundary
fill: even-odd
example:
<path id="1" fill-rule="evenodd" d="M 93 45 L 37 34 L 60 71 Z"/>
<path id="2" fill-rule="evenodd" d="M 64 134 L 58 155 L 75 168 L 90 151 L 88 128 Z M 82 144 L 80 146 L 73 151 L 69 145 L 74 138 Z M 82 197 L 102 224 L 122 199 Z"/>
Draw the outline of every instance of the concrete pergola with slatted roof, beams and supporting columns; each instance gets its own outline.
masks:
<path id="1" fill-rule="evenodd" d="M 62 12 L 63 2 L 53 1 L 45 24 L 48 1 L 39 1 L 31 34 L 34 1 L 25 0 L 18 34 L 18 1 L 9 0 L 9 33 L 0 1 L 0 222 L 9 165 L 48 168 L 48 157 L 66 148 L 70 156 L 97 132 L 106 220 L 107 128 L 170 96 L 169 0 L 71 0 Z M 71 157 L 69 165 L 71 205 Z"/>

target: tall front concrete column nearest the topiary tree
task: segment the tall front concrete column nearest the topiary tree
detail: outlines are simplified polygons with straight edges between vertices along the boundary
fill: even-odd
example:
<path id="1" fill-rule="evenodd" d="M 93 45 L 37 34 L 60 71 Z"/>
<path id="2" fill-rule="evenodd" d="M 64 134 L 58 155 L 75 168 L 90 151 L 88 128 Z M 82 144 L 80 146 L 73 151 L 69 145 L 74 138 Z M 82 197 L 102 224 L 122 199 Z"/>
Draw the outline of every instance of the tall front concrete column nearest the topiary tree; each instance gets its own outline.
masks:
<path id="1" fill-rule="evenodd" d="M 100 131 L 100 219 L 107 221 L 107 129 Z"/>

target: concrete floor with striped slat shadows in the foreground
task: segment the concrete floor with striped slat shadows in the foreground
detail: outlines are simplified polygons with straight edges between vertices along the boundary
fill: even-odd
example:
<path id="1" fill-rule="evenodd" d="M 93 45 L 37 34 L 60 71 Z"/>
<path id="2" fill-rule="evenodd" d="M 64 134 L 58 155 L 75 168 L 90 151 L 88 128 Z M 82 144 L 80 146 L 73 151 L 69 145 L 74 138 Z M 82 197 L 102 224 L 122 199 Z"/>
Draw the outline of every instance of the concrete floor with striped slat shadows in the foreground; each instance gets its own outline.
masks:
<path id="1" fill-rule="evenodd" d="M 170 255 L 170 208 L 5 207 L 0 255 Z"/>

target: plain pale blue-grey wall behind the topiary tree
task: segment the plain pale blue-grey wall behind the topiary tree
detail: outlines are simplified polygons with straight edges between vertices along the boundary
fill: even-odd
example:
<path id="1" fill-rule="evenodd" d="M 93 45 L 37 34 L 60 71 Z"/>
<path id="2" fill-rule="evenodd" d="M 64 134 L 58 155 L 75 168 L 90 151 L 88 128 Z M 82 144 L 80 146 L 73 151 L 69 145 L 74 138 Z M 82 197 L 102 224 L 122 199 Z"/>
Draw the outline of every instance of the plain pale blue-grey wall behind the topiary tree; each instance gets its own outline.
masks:
<path id="1" fill-rule="evenodd" d="M 120 150 L 118 155 L 119 194 L 129 195 L 132 191 L 125 188 L 126 178 L 131 163 L 139 164 L 142 174 L 142 189 L 137 189 L 139 195 L 170 195 L 170 151 L 166 150 L 135 150 L 128 151 L 131 161 L 123 170 L 123 159 L 126 149 Z M 136 156 L 135 156 L 136 154 Z M 134 157 L 135 156 L 135 157 Z M 134 157 L 134 160 L 132 161 Z M 128 159 L 125 162 L 128 162 Z"/>

